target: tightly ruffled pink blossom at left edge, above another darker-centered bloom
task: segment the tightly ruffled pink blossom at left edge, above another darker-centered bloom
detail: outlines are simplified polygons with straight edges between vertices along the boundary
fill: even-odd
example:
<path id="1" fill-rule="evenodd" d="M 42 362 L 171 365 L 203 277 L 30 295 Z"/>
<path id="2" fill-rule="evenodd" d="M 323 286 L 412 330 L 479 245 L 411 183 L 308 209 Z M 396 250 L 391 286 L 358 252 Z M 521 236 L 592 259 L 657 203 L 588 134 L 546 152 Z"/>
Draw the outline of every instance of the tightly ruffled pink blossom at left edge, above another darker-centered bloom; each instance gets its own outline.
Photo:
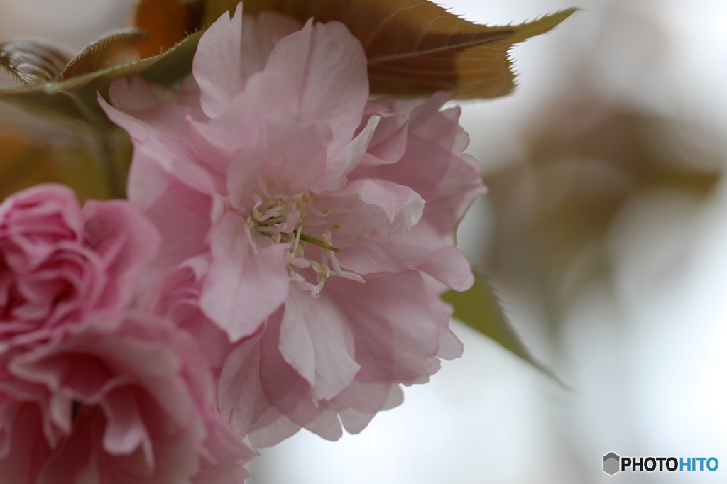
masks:
<path id="1" fill-rule="evenodd" d="M 38 185 L 0 205 L 0 349 L 48 339 L 96 311 L 121 310 L 158 250 L 127 201 L 88 201 Z"/>

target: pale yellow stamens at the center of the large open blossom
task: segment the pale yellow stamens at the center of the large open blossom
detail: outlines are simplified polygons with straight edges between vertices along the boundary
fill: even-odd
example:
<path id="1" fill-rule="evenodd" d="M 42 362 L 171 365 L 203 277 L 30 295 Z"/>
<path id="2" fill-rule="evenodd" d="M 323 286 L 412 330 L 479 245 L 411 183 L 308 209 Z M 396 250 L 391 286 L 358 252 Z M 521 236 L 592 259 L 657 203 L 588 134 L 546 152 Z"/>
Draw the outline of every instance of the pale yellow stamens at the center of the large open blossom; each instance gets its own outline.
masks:
<path id="1" fill-rule="evenodd" d="M 337 229 L 345 230 L 345 227 L 330 217 L 345 213 L 345 210 L 318 209 L 315 206 L 318 198 L 307 191 L 295 195 L 273 195 L 270 190 L 276 185 L 272 180 L 267 185 L 261 180 L 258 182 L 262 193 L 256 191 L 252 195 L 252 210 L 245 225 L 260 235 L 270 237 L 274 243 L 291 244 L 286 259 L 291 280 L 297 286 L 309 291 L 311 297 L 318 298 L 329 277 L 365 282 L 361 275 L 342 270 L 336 259 L 341 249 L 334 245 L 332 233 Z M 340 242 L 348 241 L 350 239 Z"/>

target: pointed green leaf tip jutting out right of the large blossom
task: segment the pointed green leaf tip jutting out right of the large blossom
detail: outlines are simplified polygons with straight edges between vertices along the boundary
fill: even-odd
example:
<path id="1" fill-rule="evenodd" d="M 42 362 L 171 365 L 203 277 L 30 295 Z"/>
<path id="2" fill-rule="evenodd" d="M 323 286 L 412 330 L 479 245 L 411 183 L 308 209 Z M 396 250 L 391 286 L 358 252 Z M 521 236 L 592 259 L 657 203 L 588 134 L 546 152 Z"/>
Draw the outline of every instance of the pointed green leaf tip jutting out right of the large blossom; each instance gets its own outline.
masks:
<path id="1" fill-rule="evenodd" d="M 465 292 L 448 291 L 442 299 L 454 306 L 454 318 L 497 342 L 505 350 L 526 360 L 563 384 L 550 369 L 534 358 L 507 320 L 494 289 L 485 276 L 475 271 L 475 284 Z"/>

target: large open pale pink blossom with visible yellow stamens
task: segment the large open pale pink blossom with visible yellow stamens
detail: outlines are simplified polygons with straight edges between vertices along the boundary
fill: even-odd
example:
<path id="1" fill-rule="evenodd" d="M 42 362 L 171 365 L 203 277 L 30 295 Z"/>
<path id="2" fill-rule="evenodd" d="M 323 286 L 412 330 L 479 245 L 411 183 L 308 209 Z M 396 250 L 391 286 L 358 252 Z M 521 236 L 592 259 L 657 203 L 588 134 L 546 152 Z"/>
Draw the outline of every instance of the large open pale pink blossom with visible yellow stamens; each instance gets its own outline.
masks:
<path id="1" fill-rule="evenodd" d="M 100 102 L 132 136 L 129 195 L 163 238 L 148 304 L 224 355 L 238 432 L 358 432 L 461 354 L 439 296 L 473 282 L 451 234 L 484 189 L 446 94 L 369 102 L 344 25 L 239 7 L 202 37 L 179 100 L 158 92 L 121 80 Z"/>

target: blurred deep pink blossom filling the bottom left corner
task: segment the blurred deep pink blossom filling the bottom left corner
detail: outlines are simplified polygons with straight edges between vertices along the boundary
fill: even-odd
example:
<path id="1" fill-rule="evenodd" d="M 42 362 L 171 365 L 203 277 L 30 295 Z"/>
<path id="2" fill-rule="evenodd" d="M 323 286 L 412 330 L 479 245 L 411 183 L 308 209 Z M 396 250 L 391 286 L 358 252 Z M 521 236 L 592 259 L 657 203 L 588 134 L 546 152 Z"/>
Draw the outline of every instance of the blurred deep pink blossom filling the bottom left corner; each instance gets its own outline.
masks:
<path id="1" fill-rule="evenodd" d="M 140 312 L 0 355 L 0 482 L 240 484 L 252 451 L 222 422 L 185 332 Z"/>

